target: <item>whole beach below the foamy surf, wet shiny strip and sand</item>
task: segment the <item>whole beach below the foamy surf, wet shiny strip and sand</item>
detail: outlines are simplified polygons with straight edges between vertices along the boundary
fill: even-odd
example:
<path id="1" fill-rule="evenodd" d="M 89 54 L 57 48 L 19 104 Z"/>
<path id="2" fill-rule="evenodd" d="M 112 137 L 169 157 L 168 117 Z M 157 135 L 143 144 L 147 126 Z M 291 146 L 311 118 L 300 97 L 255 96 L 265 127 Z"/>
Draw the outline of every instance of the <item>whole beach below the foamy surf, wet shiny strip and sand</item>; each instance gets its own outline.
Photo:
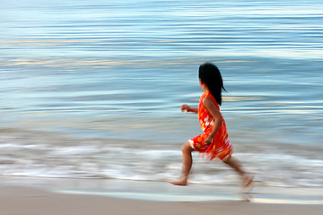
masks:
<path id="1" fill-rule="evenodd" d="M 251 202 L 242 201 L 233 189 L 218 189 L 214 200 L 207 198 L 207 187 L 170 186 L 165 183 L 114 181 L 103 188 L 80 186 L 91 180 L 72 185 L 20 186 L 5 183 L 0 186 L 1 215 L 96 215 L 96 214 L 321 214 L 323 198 L 315 188 L 268 188 L 251 193 Z M 73 183 L 74 184 L 74 183 Z M 75 185 L 75 184 L 74 184 Z M 90 184 L 88 184 L 90 185 Z M 124 185 L 124 186 L 123 186 Z M 122 186 L 122 188 L 121 188 Z M 87 186 L 89 187 L 89 186 Z M 155 188 L 153 188 L 155 187 Z M 172 189 L 173 187 L 173 189 Z M 202 187 L 202 186 L 201 186 Z M 194 192 L 195 191 L 195 192 Z M 286 191 L 286 192 L 285 192 Z M 281 193 L 279 193 L 281 192 Z M 176 199 L 182 196 L 182 200 Z M 191 197 L 191 198 L 185 198 Z M 205 199 L 203 200 L 203 196 Z M 222 200 L 223 199 L 223 200 Z M 259 200 L 263 200 L 263 202 Z M 272 200 L 272 202 L 270 202 Z M 273 203 L 276 202 L 276 203 Z"/>

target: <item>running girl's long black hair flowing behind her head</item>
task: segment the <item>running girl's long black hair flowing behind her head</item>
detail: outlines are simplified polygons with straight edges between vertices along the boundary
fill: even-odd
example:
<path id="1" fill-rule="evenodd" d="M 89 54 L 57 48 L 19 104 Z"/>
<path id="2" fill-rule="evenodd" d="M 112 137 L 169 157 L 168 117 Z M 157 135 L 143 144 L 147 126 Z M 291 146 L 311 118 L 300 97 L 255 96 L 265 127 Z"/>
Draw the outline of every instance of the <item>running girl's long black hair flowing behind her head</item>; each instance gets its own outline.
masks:
<path id="1" fill-rule="evenodd" d="M 221 106 L 222 90 L 225 90 L 225 88 L 223 86 L 223 79 L 218 67 L 211 63 L 201 64 L 198 70 L 198 78 L 202 82 L 205 82 L 207 88 L 214 96 L 214 99 L 219 104 L 219 106 Z"/>

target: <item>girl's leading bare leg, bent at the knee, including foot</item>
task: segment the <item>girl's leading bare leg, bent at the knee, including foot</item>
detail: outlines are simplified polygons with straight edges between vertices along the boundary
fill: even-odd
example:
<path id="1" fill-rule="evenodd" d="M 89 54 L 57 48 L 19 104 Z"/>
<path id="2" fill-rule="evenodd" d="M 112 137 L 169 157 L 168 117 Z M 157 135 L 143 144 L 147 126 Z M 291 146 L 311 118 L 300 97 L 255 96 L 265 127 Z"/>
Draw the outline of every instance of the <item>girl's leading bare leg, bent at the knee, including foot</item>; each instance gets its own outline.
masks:
<path id="1" fill-rule="evenodd" d="M 192 168 L 193 159 L 192 159 L 192 151 L 189 142 L 186 142 L 181 147 L 182 154 L 183 154 L 183 164 L 182 164 L 182 171 L 179 178 L 175 180 L 168 180 L 173 185 L 188 185 L 188 175 L 190 169 Z"/>

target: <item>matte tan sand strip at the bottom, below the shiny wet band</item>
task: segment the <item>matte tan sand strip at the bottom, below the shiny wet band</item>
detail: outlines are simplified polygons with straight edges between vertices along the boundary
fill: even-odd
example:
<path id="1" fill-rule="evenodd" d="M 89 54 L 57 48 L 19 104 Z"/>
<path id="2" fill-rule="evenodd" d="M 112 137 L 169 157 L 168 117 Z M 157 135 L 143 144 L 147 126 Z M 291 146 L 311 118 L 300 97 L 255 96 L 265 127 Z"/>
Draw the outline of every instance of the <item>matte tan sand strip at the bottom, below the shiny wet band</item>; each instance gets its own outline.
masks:
<path id="1" fill-rule="evenodd" d="M 319 214 L 323 204 L 254 203 L 238 200 L 165 202 L 93 194 L 57 193 L 31 186 L 0 186 L 1 214 Z"/>

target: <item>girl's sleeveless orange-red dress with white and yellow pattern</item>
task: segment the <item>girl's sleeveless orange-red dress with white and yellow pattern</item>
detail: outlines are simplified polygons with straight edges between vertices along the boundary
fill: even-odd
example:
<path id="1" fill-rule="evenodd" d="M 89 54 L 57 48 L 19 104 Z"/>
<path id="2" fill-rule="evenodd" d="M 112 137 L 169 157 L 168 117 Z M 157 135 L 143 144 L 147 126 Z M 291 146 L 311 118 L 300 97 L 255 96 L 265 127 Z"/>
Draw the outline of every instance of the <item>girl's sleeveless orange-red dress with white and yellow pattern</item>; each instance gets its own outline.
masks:
<path id="1" fill-rule="evenodd" d="M 206 144 L 205 139 L 212 132 L 214 126 L 214 117 L 208 112 L 203 105 L 203 99 L 210 98 L 214 101 L 216 107 L 220 110 L 219 105 L 214 99 L 213 95 L 207 91 L 205 92 L 199 101 L 198 105 L 198 120 L 201 124 L 201 129 L 204 133 L 197 135 L 196 137 L 188 140 L 193 150 L 200 152 L 206 159 L 221 159 L 223 161 L 230 159 L 232 154 L 232 146 L 229 142 L 227 128 L 223 119 L 222 125 L 214 135 L 214 140 L 211 144 Z"/>

